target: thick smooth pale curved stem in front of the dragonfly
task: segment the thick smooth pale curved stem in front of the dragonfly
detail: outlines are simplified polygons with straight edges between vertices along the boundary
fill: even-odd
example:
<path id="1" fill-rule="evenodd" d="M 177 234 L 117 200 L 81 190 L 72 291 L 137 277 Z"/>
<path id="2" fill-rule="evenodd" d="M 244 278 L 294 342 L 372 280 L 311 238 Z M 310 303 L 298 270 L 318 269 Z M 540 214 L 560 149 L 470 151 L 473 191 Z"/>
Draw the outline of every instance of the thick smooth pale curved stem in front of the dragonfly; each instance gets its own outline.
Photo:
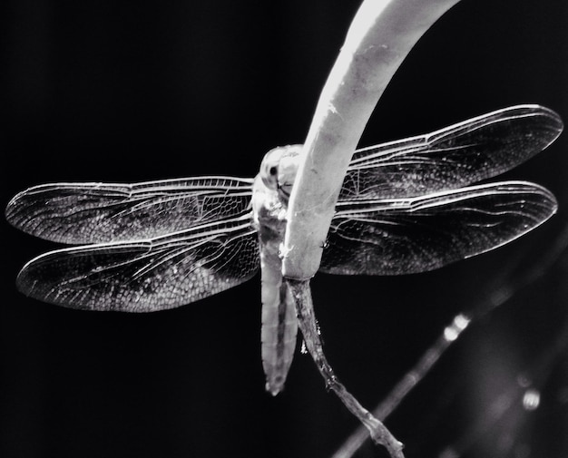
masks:
<path id="1" fill-rule="evenodd" d="M 459 0 L 365 0 L 320 95 L 289 200 L 283 274 L 318 271 L 348 163 L 379 97 L 418 39 Z"/>

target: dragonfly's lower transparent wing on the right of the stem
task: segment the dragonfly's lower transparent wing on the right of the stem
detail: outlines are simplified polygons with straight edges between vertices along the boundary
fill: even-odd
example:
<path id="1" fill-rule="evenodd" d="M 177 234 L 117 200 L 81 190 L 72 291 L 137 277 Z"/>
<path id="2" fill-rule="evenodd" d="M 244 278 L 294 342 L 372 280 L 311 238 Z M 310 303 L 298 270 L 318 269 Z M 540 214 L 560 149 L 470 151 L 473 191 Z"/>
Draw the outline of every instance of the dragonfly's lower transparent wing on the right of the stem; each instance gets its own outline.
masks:
<path id="1" fill-rule="evenodd" d="M 320 271 L 398 275 L 441 268 L 520 237 L 555 210 L 548 190 L 523 181 L 340 204 Z"/>

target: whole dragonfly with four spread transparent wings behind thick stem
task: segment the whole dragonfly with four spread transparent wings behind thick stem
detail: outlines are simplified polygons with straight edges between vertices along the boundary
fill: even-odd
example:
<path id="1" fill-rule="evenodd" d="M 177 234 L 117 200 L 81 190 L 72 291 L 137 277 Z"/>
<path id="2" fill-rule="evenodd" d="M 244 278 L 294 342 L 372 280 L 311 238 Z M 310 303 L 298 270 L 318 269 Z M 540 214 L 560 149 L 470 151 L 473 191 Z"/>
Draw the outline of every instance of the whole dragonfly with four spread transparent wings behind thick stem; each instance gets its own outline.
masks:
<path id="1" fill-rule="evenodd" d="M 500 247 L 550 218 L 553 194 L 525 181 L 484 182 L 543 151 L 559 116 L 517 105 L 436 132 L 355 151 L 320 272 L 401 275 Z M 134 184 L 58 182 L 24 190 L 6 219 L 71 245 L 29 261 L 29 297 L 88 310 L 153 312 L 235 287 L 261 272 L 266 388 L 284 387 L 298 318 L 281 274 L 301 145 L 269 151 L 255 179 L 205 176 Z"/>

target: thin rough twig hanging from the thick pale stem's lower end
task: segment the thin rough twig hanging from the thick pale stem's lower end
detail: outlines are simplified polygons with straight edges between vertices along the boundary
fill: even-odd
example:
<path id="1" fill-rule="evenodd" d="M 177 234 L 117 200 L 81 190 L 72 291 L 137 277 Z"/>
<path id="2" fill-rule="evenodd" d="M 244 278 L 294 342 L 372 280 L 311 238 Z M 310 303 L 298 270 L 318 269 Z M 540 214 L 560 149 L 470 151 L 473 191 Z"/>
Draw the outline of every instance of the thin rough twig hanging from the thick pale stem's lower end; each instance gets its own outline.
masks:
<path id="1" fill-rule="evenodd" d="M 357 399 L 339 382 L 331 365 L 329 365 L 323 353 L 321 340 L 319 339 L 318 326 L 316 324 L 308 281 L 289 280 L 289 287 L 296 303 L 299 329 L 304 336 L 309 354 L 318 366 L 319 373 L 325 380 L 326 387 L 338 395 L 338 398 L 348 408 L 349 412 L 357 416 L 359 421 L 367 427 L 375 443 L 384 445 L 393 458 L 404 458 L 402 443 L 398 442 L 384 424 L 379 422 L 377 418 L 357 402 Z"/>

